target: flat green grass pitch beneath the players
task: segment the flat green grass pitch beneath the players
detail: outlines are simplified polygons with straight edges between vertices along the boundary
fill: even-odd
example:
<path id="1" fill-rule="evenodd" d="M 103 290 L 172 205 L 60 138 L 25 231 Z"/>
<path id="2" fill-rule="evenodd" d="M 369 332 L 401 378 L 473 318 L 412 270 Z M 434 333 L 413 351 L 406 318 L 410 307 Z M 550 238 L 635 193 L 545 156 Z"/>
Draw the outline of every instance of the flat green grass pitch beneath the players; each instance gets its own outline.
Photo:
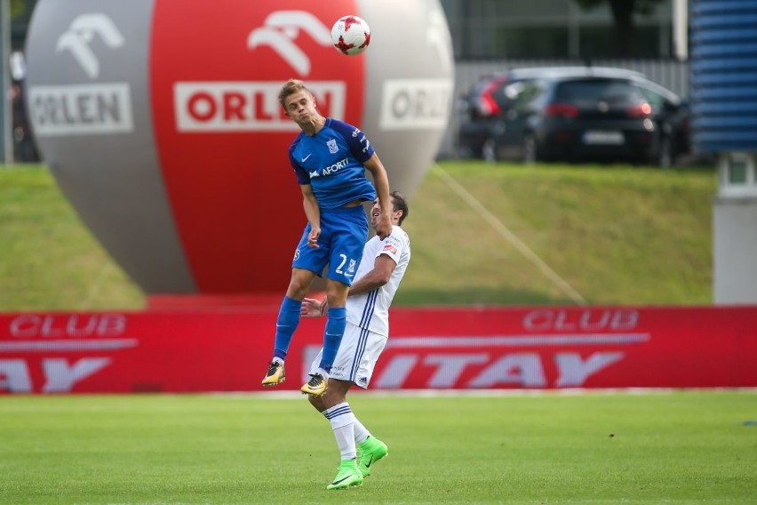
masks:
<path id="1" fill-rule="evenodd" d="M 757 393 L 355 394 L 363 486 L 303 397 L 0 397 L 0 503 L 757 503 Z"/>

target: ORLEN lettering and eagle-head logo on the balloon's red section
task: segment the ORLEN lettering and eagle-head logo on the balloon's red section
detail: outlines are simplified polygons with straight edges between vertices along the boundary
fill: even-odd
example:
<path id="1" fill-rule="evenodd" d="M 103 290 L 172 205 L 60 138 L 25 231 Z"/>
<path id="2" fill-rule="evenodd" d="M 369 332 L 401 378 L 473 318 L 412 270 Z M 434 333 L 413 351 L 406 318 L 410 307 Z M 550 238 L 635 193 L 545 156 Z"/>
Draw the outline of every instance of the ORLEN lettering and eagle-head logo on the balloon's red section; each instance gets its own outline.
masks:
<path id="1" fill-rule="evenodd" d="M 247 48 L 272 49 L 297 70 L 300 76 L 310 73 L 307 53 L 295 44 L 301 32 L 316 43 L 331 44 L 330 31 L 310 12 L 279 11 L 269 14 L 260 28 L 247 37 Z M 281 82 L 227 81 L 179 82 L 174 84 L 173 99 L 179 132 L 288 132 L 294 124 L 279 104 Z M 342 81 L 308 81 L 324 116 L 344 117 L 347 101 Z"/>

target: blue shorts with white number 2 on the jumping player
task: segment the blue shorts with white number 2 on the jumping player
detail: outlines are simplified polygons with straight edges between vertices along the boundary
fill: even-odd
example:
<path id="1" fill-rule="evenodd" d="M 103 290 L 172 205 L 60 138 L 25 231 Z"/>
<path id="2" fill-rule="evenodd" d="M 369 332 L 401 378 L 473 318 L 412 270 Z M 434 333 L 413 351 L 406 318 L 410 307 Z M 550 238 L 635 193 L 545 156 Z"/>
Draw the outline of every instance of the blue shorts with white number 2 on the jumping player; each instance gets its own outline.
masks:
<path id="1" fill-rule="evenodd" d="M 331 280 L 352 285 L 357 267 L 363 258 L 363 247 L 368 240 L 368 216 L 363 205 L 339 207 L 321 212 L 321 236 L 318 247 L 307 246 L 310 223 L 297 244 L 294 252 L 293 269 L 311 270 L 319 276 L 329 266 L 326 275 Z"/>

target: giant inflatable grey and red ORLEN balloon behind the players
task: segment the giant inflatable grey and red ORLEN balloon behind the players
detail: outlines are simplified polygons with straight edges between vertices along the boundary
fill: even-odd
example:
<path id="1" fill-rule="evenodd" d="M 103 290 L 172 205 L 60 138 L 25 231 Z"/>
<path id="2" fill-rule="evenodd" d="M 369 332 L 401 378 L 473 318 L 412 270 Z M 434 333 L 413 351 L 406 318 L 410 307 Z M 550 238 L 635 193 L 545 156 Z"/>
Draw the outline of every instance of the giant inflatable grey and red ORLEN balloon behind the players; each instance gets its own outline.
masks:
<path id="1" fill-rule="evenodd" d="M 355 14 L 371 46 L 345 56 Z M 437 0 L 39 0 L 28 110 L 63 193 L 146 293 L 283 293 L 306 224 L 278 90 L 368 134 L 411 196 L 452 99 Z"/>

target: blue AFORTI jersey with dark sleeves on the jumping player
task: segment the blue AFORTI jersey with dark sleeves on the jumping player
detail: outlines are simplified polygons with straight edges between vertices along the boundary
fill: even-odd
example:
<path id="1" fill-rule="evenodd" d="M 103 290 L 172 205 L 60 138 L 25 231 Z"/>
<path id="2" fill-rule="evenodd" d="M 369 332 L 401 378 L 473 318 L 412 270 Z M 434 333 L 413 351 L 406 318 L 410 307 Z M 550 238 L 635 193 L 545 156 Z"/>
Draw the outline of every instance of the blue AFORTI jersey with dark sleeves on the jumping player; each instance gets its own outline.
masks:
<path id="1" fill-rule="evenodd" d="M 363 167 L 371 156 L 373 146 L 365 133 L 331 117 L 312 137 L 300 132 L 289 148 L 297 181 L 311 185 L 322 211 L 376 198 L 376 189 Z"/>

